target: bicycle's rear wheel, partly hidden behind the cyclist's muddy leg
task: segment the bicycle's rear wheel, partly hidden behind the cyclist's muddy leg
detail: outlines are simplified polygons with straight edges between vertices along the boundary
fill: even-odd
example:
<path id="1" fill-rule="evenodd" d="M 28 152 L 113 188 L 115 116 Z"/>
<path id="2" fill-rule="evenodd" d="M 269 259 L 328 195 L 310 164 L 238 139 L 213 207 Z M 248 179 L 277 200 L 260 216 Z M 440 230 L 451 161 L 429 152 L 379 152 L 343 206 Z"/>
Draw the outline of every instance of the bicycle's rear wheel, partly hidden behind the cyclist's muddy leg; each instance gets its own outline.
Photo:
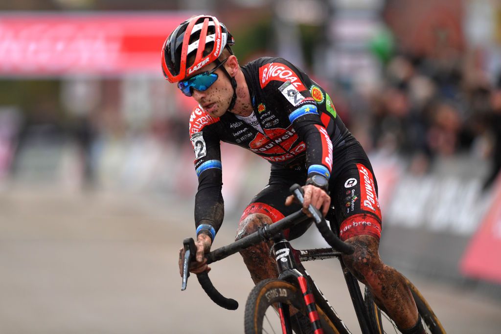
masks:
<path id="1" fill-rule="evenodd" d="M 414 284 L 406 278 L 407 286 L 412 292 L 412 296 L 414 297 L 414 301 L 416 302 L 417 310 L 421 315 L 421 321 L 423 323 L 424 331 L 429 334 L 445 334 L 445 329 L 442 324 L 438 320 L 437 316 L 431 309 L 430 305 L 424 299 L 423 295 L 419 292 Z M 374 302 L 374 298 L 369 291 L 369 289 L 365 288 L 365 305 L 370 314 L 371 321 L 373 321 L 373 326 L 377 328 L 378 334 L 383 333 L 393 333 L 398 332 L 397 326 L 390 319 L 388 315 L 382 310 Z M 383 328 L 384 327 L 384 328 Z"/>

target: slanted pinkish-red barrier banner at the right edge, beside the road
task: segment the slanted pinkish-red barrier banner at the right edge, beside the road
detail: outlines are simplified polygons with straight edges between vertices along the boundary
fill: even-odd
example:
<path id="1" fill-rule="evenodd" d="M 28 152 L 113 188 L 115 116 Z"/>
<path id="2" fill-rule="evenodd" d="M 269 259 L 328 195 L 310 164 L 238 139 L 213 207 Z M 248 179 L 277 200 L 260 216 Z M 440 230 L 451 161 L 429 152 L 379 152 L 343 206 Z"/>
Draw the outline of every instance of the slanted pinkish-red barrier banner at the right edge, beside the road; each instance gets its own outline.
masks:
<path id="1" fill-rule="evenodd" d="M 493 201 L 461 262 L 467 276 L 501 283 L 501 176 L 492 191 Z"/>

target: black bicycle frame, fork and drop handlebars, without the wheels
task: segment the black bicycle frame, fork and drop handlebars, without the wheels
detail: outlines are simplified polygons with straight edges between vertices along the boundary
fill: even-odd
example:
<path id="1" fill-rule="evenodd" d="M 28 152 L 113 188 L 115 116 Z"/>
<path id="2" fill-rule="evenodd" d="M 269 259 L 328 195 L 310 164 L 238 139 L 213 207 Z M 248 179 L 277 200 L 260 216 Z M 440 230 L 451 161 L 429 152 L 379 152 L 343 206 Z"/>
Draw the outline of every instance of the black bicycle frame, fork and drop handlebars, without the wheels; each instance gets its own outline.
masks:
<path id="1" fill-rule="evenodd" d="M 291 186 L 290 190 L 299 200 L 299 202 L 303 203 L 304 194 L 302 188 L 299 185 L 294 184 L 293 186 Z M 301 263 L 301 261 L 337 257 L 341 262 L 343 274 L 345 276 L 345 280 L 351 295 L 351 299 L 353 301 L 362 333 L 374 333 L 375 330 L 374 328 L 372 328 L 373 322 L 371 322 L 367 313 L 360 287 L 358 285 L 358 280 L 348 271 L 341 259 L 342 254 L 352 254 L 354 252 L 354 247 L 349 243 L 341 241 L 339 237 L 332 232 L 319 210 L 310 205 L 309 211 L 313 215 L 314 222 L 318 227 L 320 233 L 332 248 L 306 250 L 296 250 L 292 248 L 289 241 L 284 238 L 282 231 L 294 225 L 305 222 L 306 220 L 312 219 L 308 217 L 304 212 L 302 212 L 302 210 L 299 210 L 271 225 L 260 227 L 259 230 L 255 233 L 249 234 L 229 245 L 222 246 L 211 251 L 208 254 L 205 254 L 205 257 L 207 258 L 207 264 L 222 260 L 229 255 L 239 252 L 240 250 L 247 247 L 259 244 L 263 241 L 273 240 L 275 242 L 273 245 L 273 250 L 275 252 L 277 267 L 279 270 L 278 278 L 292 282 L 293 284 L 297 284 L 298 286 L 300 286 L 305 296 L 309 296 L 308 298 L 313 298 L 312 288 L 316 289 L 315 283 L 308 274 L 305 275 L 297 269 L 298 262 Z M 193 238 L 184 239 L 183 245 L 185 256 L 183 262 L 183 279 L 181 290 L 186 289 L 187 279 L 190 275 L 189 264 L 194 260 L 196 254 L 196 247 Z M 335 249 L 338 251 L 336 251 Z M 224 297 L 213 286 L 206 272 L 197 274 L 197 278 L 203 290 L 217 305 L 230 310 L 234 310 L 238 307 L 238 302 L 236 300 Z M 317 289 L 317 291 L 319 290 Z M 305 303 L 307 306 L 307 311 L 309 313 L 313 312 L 314 314 L 316 314 L 315 303 L 312 302 L 311 299 L 305 299 Z M 288 318 L 287 314 L 288 312 L 286 313 L 286 316 L 282 317 Z M 321 330 L 318 316 L 316 316 L 317 320 L 314 320 L 314 318 L 315 317 L 310 316 L 312 329 L 314 331 Z M 342 321 L 339 321 L 341 322 L 341 325 L 344 326 Z M 286 326 L 283 327 L 284 332 L 292 333 L 292 330 L 290 329 L 290 323 L 288 323 L 287 319 L 285 319 L 285 323 L 283 321 L 283 325 Z"/>

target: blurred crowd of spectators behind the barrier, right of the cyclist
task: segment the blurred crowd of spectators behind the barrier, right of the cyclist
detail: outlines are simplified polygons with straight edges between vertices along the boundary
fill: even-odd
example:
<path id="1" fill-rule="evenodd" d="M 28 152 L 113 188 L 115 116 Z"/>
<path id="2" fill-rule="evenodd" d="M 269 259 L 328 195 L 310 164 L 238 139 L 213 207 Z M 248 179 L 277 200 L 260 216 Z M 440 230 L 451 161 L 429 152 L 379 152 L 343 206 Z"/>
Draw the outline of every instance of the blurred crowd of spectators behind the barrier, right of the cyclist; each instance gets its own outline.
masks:
<path id="1" fill-rule="evenodd" d="M 367 151 L 404 156 L 412 173 L 437 157 L 489 160 L 487 188 L 501 168 L 501 77 L 489 79 L 475 56 L 439 51 L 393 56 L 377 83 L 335 94 L 338 112 Z"/>

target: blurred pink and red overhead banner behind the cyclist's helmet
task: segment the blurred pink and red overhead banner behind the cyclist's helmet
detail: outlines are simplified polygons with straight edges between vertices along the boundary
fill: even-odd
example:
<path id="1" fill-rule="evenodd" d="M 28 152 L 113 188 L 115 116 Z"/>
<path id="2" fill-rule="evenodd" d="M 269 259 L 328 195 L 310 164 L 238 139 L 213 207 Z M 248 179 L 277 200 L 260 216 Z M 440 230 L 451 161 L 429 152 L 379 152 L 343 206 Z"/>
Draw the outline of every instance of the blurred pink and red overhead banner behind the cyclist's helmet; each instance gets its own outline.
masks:
<path id="1" fill-rule="evenodd" d="M 160 51 L 190 13 L 3 14 L 0 75 L 150 73 Z"/>

